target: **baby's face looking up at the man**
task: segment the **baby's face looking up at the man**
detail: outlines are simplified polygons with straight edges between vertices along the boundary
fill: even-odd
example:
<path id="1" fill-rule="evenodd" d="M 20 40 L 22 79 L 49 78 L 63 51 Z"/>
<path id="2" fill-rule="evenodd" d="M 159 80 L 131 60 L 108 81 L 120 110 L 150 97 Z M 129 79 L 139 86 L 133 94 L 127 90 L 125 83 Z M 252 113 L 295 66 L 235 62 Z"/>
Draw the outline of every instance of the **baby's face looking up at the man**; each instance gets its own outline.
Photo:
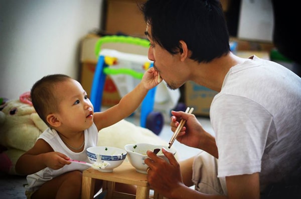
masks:
<path id="1" fill-rule="evenodd" d="M 82 131 L 93 124 L 93 105 L 79 82 L 73 79 L 64 81 L 57 86 L 56 93 L 61 127 Z"/>

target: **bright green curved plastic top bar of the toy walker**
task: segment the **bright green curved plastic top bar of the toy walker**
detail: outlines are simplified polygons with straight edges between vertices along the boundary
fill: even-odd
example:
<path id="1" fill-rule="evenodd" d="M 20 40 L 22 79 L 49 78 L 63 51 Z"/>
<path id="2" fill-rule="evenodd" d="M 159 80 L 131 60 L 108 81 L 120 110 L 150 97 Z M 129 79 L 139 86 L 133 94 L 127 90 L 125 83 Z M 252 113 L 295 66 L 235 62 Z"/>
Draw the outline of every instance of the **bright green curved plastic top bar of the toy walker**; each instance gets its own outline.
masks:
<path id="1" fill-rule="evenodd" d="M 142 46 L 145 48 L 149 47 L 149 41 L 141 38 L 135 38 L 131 36 L 104 36 L 101 37 L 95 44 L 95 55 L 98 56 L 100 47 L 105 43 L 126 43 Z"/>

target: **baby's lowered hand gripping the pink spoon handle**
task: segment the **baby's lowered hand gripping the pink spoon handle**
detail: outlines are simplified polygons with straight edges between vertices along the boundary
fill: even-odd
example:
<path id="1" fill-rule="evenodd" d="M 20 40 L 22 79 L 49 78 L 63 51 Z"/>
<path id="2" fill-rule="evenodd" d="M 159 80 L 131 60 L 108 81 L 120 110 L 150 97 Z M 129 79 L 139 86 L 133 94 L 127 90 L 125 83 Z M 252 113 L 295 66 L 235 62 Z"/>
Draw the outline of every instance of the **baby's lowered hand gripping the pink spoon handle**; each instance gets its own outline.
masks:
<path id="1" fill-rule="evenodd" d="M 70 161 L 68 161 L 70 158 L 67 157 L 65 154 L 60 152 L 49 152 L 45 154 L 46 157 L 46 165 L 49 168 L 52 169 L 60 169 L 66 164 L 71 164 Z"/>

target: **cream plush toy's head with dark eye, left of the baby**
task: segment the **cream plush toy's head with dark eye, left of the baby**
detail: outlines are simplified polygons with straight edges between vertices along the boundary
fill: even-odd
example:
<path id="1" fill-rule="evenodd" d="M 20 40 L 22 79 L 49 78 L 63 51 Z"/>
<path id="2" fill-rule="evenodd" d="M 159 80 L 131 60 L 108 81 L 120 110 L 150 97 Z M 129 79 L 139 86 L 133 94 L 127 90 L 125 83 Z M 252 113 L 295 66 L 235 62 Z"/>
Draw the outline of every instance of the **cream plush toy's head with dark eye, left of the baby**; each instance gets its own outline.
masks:
<path id="1" fill-rule="evenodd" d="M 35 144 L 46 128 L 28 92 L 18 100 L 4 102 L 0 106 L 0 171 L 17 174 L 18 158 Z"/>

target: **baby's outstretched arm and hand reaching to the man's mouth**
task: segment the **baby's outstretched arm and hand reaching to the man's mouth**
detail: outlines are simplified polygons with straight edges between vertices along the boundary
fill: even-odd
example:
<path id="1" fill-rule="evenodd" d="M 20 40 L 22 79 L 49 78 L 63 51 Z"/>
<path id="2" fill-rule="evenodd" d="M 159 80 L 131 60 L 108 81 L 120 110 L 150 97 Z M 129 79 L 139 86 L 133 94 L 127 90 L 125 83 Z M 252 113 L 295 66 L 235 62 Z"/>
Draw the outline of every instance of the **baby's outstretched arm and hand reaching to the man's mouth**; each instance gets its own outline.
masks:
<path id="1" fill-rule="evenodd" d="M 94 113 L 94 123 L 98 130 L 111 126 L 132 114 L 141 104 L 148 90 L 161 81 L 158 81 L 158 72 L 153 67 L 145 71 L 139 84 L 122 97 L 118 104 L 106 111 Z"/>

